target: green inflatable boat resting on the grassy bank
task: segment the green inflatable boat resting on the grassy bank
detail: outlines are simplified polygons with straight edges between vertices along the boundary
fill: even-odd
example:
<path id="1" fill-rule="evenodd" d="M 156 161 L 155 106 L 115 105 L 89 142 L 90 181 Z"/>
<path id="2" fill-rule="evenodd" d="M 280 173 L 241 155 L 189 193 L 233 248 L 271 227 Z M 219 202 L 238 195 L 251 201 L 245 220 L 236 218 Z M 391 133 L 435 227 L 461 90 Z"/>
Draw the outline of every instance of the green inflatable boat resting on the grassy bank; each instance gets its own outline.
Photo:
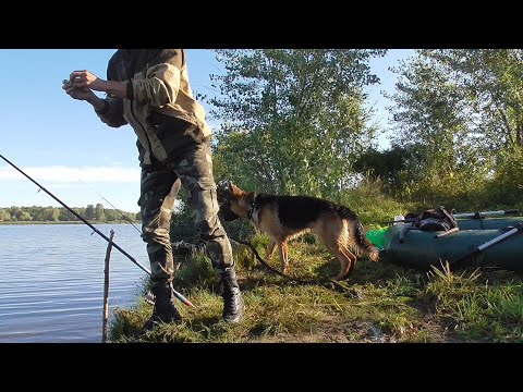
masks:
<path id="1" fill-rule="evenodd" d="M 523 271 L 523 217 L 458 219 L 449 231 L 422 231 L 397 223 L 367 236 L 380 248 L 380 261 L 427 271 L 446 261 Z"/>

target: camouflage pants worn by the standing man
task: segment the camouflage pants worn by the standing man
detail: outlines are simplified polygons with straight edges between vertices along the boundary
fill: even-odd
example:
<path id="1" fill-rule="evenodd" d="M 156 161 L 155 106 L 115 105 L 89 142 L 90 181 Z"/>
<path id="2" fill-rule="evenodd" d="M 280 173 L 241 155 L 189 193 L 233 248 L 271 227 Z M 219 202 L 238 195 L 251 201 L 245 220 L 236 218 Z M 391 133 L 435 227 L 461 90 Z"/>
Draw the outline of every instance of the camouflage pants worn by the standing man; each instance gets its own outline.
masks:
<path id="1" fill-rule="evenodd" d="M 233 267 L 232 249 L 218 219 L 216 183 L 212 175 L 210 142 L 196 144 L 177 154 L 166 164 L 142 169 L 142 237 L 147 243 L 153 282 L 171 280 L 174 272 L 169 235 L 174 200 L 183 185 L 188 194 L 194 224 L 218 272 Z"/>

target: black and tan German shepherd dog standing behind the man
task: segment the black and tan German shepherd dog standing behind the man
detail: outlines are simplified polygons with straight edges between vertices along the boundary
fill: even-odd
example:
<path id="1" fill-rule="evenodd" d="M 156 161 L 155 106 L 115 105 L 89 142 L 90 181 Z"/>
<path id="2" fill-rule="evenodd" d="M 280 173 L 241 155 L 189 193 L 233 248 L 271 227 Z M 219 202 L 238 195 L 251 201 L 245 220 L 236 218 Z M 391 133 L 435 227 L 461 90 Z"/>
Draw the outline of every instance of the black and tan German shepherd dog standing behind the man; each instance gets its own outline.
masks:
<path id="1" fill-rule="evenodd" d="M 269 235 L 267 258 L 271 258 L 278 246 L 282 273 L 289 268 L 288 241 L 306 232 L 319 236 L 340 260 L 341 269 L 336 280 L 344 280 L 352 273 L 356 264 L 354 253 L 378 261 L 378 248 L 366 238 L 357 216 L 346 207 L 309 196 L 244 192 L 229 181 L 220 182 L 218 201 L 226 221 L 248 218 L 257 230 Z"/>

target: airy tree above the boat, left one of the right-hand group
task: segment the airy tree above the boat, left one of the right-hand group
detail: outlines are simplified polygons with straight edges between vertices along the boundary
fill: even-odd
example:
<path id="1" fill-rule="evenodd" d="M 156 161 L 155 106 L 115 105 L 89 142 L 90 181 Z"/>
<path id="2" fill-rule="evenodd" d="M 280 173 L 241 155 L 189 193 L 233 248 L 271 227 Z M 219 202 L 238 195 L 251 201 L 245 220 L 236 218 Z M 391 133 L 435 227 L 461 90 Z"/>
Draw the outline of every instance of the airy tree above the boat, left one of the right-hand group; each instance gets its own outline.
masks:
<path id="1" fill-rule="evenodd" d="M 389 96 L 396 102 L 392 145 L 422 154 L 422 177 L 452 171 L 455 142 L 467 134 L 462 90 L 448 79 L 448 70 L 423 53 L 402 63 L 397 91 Z"/>

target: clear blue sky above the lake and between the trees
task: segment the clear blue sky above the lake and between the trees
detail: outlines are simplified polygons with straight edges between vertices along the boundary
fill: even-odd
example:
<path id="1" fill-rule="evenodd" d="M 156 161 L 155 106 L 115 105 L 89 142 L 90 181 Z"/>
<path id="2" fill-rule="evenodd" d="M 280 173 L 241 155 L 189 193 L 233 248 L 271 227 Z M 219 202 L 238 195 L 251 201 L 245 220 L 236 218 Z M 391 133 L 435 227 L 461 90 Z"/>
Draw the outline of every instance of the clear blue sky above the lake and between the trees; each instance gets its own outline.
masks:
<path id="1" fill-rule="evenodd" d="M 129 126 L 111 128 L 90 105 L 71 99 L 61 88 L 74 70 L 106 78 L 107 61 L 115 49 L 0 49 L 0 155 L 40 183 L 69 207 L 102 204 L 137 212 L 139 166 L 136 136 Z M 412 49 L 391 49 L 370 61 L 381 83 L 368 89 L 373 121 L 386 130 L 389 121 L 381 91 L 394 89 L 388 71 Z M 190 83 L 195 93 L 212 95 L 209 74 L 223 69 L 211 50 L 187 49 Z M 104 94 L 97 93 L 104 97 Z M 204 105 L 207 112 L 209 107 Z M 217 123 L 209 122 L 217 126 Z M 380 135 L 379 146 L 388 146 Z M 0 159 L 0 208 L 60 207 L 45 192 Z M 106 200 L 109 200 L 110 206 Z"/>

